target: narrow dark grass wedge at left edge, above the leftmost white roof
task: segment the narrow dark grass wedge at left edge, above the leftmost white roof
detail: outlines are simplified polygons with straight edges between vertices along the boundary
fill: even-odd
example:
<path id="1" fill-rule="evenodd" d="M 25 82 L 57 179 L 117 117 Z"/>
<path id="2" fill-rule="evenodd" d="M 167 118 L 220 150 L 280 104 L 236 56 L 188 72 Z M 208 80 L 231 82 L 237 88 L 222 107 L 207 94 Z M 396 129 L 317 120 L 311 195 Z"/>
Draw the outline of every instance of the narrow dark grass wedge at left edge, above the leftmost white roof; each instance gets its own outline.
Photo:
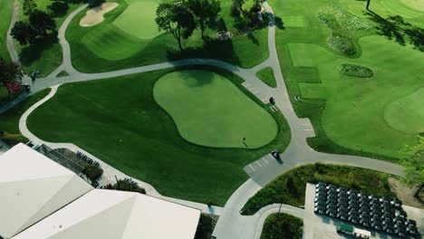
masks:
<path id="1" fill-rule="evenodd" d="M 12 134 L 19 134 L 19 119 L 22 114 L 28 110 L 35 102 L 41 100 L 49 93 L 50 89 L 39 91 L 29 96 L 26 100 L 16 105 L 13 109 L 0 114 L 0 131 L 6 131 Z"/>

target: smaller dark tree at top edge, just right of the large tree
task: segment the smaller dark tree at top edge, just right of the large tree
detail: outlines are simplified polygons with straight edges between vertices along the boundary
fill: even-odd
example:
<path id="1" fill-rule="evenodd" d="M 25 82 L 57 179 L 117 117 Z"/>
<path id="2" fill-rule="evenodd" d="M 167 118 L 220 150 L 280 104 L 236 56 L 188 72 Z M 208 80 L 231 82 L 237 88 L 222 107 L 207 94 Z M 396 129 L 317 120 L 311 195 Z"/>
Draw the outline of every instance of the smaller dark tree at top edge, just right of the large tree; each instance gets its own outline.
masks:
<path id="1" fill-rule="evenodd" d="M 188 7 L 193 11 L 202 33 L 206 27 L 213 27 L 217 24 L 217 16 L 221 11 L 221 5 L 217 0 L 188 0 Z"/>

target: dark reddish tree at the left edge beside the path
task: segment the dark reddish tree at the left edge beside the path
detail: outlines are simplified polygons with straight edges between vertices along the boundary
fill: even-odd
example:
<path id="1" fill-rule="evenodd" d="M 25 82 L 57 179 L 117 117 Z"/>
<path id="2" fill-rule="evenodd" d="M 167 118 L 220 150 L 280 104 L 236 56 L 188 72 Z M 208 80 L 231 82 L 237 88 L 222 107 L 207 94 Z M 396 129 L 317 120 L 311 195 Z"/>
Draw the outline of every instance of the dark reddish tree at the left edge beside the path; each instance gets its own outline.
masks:
<path id="1" fill-rule="evenodd" d="M 0 83 L 5 86 L 10 100 L 11 90 L 7 87 L 9 83 L 20 83 L 24 78 L 21 66 L 15 62 L 5 62 L 0 58 Z"/>

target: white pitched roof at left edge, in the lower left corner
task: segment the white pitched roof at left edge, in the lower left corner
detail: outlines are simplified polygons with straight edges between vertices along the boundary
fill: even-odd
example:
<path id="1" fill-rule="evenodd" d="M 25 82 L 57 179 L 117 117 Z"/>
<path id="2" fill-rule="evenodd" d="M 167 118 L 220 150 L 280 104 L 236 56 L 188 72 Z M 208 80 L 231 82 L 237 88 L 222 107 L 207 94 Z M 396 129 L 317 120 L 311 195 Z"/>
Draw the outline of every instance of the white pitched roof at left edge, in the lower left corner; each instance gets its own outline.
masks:
<path id="1" fill-rule="evenodd" d="M 92 190 L 82 178 L 18 144 L 0 156 L 0 236 L 10 238 Z"/>

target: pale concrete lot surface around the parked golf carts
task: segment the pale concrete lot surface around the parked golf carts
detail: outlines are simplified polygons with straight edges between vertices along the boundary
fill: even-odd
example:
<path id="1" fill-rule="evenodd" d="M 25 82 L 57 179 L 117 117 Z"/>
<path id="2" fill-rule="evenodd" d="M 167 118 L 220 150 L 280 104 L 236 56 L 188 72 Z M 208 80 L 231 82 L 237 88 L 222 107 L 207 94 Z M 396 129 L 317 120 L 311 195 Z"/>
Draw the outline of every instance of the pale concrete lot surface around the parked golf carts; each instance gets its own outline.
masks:
<path id="1" fill-rule="evenodd" d="M 347 221 L 342 221 L 336 217 L 328 215 L 314 214 L 315 206 L 315 186 L 308 184 L 306 187 L 305 210 L 307 212 L 304 218 L 304 238 L 346 238 L 343 234 L 337 234 L 336 226 L 343 224 L 353 225 Z M 417 222 L 419 234 L 424 232 L 424 210 L 415 207 L 402 206 L 407 213 L 408 218 Z M 382 233 L 368 227 L 354 224 L 353 226 L 371 232 L 371 238 L 399 238 L 393 234 Z M 417 235 L 420 238 L 420 235 Z M 422 236 L 421 236 L 422 237 Z M 406 237 L 408 238 L 408 237 Z"/>

